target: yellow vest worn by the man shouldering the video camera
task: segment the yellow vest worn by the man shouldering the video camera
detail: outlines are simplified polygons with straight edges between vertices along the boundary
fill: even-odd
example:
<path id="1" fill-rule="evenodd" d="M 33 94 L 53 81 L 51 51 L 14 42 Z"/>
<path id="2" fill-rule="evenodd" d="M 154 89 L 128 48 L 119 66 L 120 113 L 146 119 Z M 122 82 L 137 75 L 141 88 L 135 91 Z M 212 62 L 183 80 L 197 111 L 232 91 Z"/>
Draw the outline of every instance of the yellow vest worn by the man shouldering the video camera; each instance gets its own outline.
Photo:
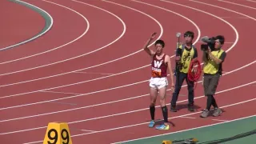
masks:
<path id="1" fill-rule="evenodd" d="M 224 50 L 214 50 L 211 51 L 211 54 L 213 54 L 215 58 L 219 59 L 223 52 Z M 216 74 L 218 73 L 219 66 L 220 64 L 216 64 L 214 60 L 209 58 L 208 62 L 204 63 L 203 72 L 205 74 Z"/>

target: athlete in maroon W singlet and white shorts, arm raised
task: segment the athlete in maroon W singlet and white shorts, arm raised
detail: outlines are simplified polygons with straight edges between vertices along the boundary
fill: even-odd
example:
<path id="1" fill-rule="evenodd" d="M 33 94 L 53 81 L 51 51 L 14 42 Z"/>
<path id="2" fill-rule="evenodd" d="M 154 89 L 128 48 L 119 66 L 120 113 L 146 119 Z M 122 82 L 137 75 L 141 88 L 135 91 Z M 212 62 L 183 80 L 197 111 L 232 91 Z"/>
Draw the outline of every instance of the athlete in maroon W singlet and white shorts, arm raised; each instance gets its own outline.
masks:
<path id="1" fill-rule="evenodd" d="M 148 48 L 150 42 L 154 39 L 156 33 L 152 34 L 150 39 L 146 42 L 146 45 L 143 49 L 147 54 L 152 58 L 151 62 L 151 78 L 150 78 L 150 116 L 151 121 L 149 127 L 154 127 L 154 111 L 155 111 L 155 102 L 158 96 L 160 97 L 160 105 L 162 107 L 162 115 L 164 118 L 164 123 L 160 126 L 156 126 L 157 130 L 169 130 L 168 122 L 168 110 L 166 107 L 166 88 L 168 86 L 167 80 L 167 69 L 170 73 L 171 80 L 171 90 L 174 88 L 174 76 L 171 69 L 170 56 L 163 53 L 163 48 L 165 42 L 162 40 L 157 40 L 154 43 L 155 51 Z"/>

